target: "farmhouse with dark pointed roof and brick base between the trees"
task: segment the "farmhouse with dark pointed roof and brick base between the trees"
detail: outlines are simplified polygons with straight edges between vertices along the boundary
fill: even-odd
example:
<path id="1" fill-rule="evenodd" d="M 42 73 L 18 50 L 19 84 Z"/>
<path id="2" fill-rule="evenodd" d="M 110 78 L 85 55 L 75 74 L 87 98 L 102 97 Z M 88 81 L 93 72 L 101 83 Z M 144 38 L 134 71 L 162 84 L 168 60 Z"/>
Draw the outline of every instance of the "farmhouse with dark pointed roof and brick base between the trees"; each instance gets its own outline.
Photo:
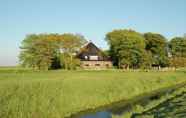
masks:
<path id="1" fill-rule="evenodd" d="M 107 69 L 112 62 L 94 43 L 87 43 L 77 54 L 83 69 Z"/>

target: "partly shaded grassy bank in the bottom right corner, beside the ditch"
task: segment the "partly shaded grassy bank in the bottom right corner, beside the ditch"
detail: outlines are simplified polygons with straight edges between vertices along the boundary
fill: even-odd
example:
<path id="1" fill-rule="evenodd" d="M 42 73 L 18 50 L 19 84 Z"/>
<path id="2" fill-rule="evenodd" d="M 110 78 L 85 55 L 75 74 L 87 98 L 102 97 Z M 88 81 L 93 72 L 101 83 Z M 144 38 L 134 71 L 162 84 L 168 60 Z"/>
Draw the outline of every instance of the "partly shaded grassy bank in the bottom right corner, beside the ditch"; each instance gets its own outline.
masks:
<path id="1" fill-rule="evenodd" d="M 184 84 L 183 84 L 184 85 Z M 179 85 L 176 87 L 171 87 L 171 90 L 168 93 L 161 93 L 158 95 L 158 97 L 152 99 L 152 98 L 143 98 L 139 99 L 138 102 L 133 102 L 130 103 L 130 107 L 126 108 L 118 108 L 114 109 L 116 112 L 112 112 L 112 118 L 151 118 L 150 116 L 156 117 L 157 114 L 161 113 L 167 115 L 168 113 L 172 112 L 172 109 L 177 109 L 176 113 L 181 113 L 182 110 L 185 107 L 185 103 L 181 103 L 181 101 L 185 101 L 185 93 L 186 93 L 186 86 L 184 85 Z M 162 92 L 162 91 L 161 91 Z M 140 101 L 141 100 L 141 101 Z M 172 103 L 170 105 L 170 101 L 175 100 L 177 101 L 176 103 Z M 178 106 L 176 106 L 179 104 Z M 173 106 L 174 105 L 174 106 Z M 171 106 L 171 109 L 170 109 Z M 180 110 L 180 106 L 182 110 Z M 162 108 L 164 107 L 166 110 L 162 111 Z M 167 110 L 169 108 L 169 110 Z M 156 109 L 156 110 L 154 110 Z M 120 111 L 119 114 L 117 111 Z M 149 113 L 152 112 L 152 113 Z M 159 113 L 158 113 L 159 112 Z M 185 112 L 185 111 L 184 111 Z M 176 114 L 174 111 L 174 115 Z M 145 116 L 145 114 L 147 116 Z M 138 117 L 139 115 L 142 115 L 141 117 Z M 171 118 L 174 117 L 172 114 Z M 160 117 L 160 116 L 159 116 Z M 164 116 L 165 117 L 165 116 Z M 167 116 L 168 117 L 168 116 Z M 169 116 L 170 117 L 170 116 Z"/>

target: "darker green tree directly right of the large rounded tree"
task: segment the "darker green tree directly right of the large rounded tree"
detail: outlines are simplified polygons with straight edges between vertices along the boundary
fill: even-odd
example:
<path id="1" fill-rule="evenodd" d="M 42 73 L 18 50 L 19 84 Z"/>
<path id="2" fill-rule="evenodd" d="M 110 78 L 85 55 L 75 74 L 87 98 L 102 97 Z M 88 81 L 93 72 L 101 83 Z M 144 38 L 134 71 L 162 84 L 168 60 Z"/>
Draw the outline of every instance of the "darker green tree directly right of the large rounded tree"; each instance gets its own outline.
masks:
<path id="1" fill-rule="evenodd" d="M 145 33 L 145 49 L 151 53 L 152 64 L 159 66 L 168 65 L 167 42 L 164 36 L 155 33 Z"/>

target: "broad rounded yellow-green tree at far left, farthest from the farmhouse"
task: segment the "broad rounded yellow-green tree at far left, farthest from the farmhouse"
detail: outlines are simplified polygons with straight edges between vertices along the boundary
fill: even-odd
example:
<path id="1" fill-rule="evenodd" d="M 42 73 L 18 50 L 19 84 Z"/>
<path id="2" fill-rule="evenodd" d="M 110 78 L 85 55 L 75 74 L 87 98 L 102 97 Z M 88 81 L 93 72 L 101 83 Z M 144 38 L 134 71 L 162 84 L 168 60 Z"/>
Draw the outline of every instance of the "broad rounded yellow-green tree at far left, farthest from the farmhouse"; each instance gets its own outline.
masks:
<path id="1" fill-rule="evenodd" d="M 50 69 L 53 59 L 59 52 L 57 42 L 47 34 L 27 35 L 20 48 L 21 64 L 39 70 Z"/>

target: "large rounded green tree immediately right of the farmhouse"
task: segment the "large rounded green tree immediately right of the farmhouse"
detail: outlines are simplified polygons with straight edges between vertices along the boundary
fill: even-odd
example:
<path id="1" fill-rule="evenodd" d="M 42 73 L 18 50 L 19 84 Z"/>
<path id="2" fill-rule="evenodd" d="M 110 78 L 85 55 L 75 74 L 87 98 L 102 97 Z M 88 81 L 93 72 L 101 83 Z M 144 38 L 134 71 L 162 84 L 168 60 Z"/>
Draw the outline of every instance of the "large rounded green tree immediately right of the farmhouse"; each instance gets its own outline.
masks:
<path id="1" fill-rule="evenodd" d="M 133 30 L 114 30 L 107 33 L 110 54 L 119 68 L 138 68 L 143 65 L 145 54 L 144 37 Z"/>

